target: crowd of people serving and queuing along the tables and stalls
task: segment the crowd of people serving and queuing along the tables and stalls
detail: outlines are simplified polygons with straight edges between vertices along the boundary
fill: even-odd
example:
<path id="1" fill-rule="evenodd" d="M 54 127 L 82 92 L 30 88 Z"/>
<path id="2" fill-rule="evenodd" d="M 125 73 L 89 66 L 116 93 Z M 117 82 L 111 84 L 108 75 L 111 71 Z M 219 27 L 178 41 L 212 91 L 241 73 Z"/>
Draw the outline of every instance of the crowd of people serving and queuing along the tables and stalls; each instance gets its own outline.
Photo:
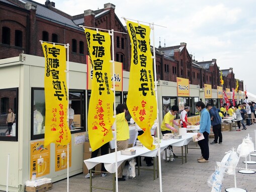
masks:
<path id="1" fill-rule="evenodd" d="M 211 104 L 205 105 L 203 102 L 196 103 L 196 109 L 200 112 L 200 122 L 197 122 L 196 125 L 200 125 L 199 132 L 197 134 L 198 137 L 202 137 L 204 139 L 198 141 L 198 145 L 201 149 L 201 156 L 197 159 L 198 162 L 204 163 L 209 162 L 209 134 L 210 128 L 212 126 L 214 133 L 214 140 L 210 144 L 222 144 L 222 133 L 221 133 L 221 122 L 222 119 L 232 119 L 237 123 L 238 129 L 236 131 L 240 131 L 240 127 L 242 125 L 242 129 L 246 130 L 246 126 L 250 126 L 255 122 L 255 110 L 256 105 L 254 102 L 248 102 L 247 98 L 244 100 L 244 103 L 237 104 L 235 106 L 229 106 L 227 110 L 227 104 L 224 104 L 220 109 L 216 108 Z M 190 107 L 185 105 L 184 110 L 181 112 L 180 119 L 176 121 L 177 114 L 179 113 L 179 106 L 174 105 L 172 108 L 164 115 L 162 123 L 161 123 L 161 134 L 164 135 L 166 133 L 178 133 L 178 128 L 183 127 L 187 128 L 191 123 L 188 122 L 188 112 L 190 111 Z M 126 105 L 119 104 L 116 108 L 116 129 L 117 129 L 117 150 L 128 148 L 128 139 L 129 139 L 129 125 L 127 122 L 127 116 L 129 116 L 129 111 L 126 108 Z M 243 121 L 246 121 L 244 124 Z M 131 119 L 132 123 L 135 123 L 133 119 Z M 155 123 L 156 124 L 156 123 Z M 176 127 L 175 127 L 175 126 Z M 245 126 L 246 125 L 246 126 Z M 138 125 L 135 124 L 138 127 Z M 154 129 L 156 125 L 153 126 L 151 135 L 154 135 Z M 139 127 L 136 128 L 139 135 L 143 134 L 143 130 Z M 172 148 L 172 146 L 170 146 Z M 109 149 L 109 144 L 105 144 L 101 147 L 102 155 L 107 154 Z M 98 154 L 98 150 L 93 151 L 92 158 L 96 157 Z M 153 165 L 151 162 L 151 158 L 145 158 L 147 166 Z M 139 165 L 141 162 L 139 162 Z M 123 175 L 124 163 L 122 163 L 118 167 L 118 180 L 125 181 L 125 176 Z M 94 168 L 93 168 L 94 170 Z M 102 176 L 106 176 L 106 169 L 104 164 L 102 164 Z M 93 175 L 93 174 L 92 174 Z M 90 178 L 90 174 L 86 175 L 86 178 Z"/>

